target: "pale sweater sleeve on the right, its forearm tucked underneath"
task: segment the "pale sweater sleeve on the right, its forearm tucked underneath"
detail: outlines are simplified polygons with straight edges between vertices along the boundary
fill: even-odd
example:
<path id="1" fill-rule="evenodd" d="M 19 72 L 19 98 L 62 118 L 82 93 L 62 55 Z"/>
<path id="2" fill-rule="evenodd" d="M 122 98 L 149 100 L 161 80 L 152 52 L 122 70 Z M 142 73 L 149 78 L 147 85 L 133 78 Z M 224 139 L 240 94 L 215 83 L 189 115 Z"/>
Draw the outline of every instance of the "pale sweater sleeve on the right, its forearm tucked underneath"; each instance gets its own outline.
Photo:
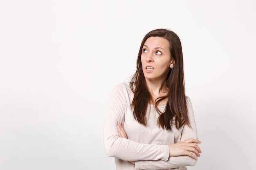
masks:
<path id="1" fill-rule="evenodd" d="M 193 108 L 189 97 L 186 98 L 186 104 L 189 114 L 189 123 L 191 128 L 186 124 L 183 127 L 182 135 L 180 141 L 184 141 L 186 139 L 194 138 L 198 139 L 197 128 L 195 124 L 195 117 L 193 113 Z M 194 154 L 195 155 L 195 154 Z M 171 168 L 179 168 L 183 166 L 195 166 L 197 160 L 193 159 L 189 156 L 178 156 L 178 157 L 169 157 L 167 161 L 164 160 L 156 160 L 156 161 L 135 161 L 136 170 L 158 170 L 158 169 L 171 169 Z"/>

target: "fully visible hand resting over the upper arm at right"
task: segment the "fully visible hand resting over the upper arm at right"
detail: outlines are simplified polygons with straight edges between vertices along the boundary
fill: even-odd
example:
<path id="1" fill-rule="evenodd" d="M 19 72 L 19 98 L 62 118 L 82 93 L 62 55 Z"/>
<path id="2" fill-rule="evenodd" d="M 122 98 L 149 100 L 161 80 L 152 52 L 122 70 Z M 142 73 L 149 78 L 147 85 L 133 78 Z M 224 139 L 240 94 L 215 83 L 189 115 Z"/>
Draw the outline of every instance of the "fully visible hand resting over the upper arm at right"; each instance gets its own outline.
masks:
<path id="1" fill-rule="evenodd" d="M 187 155 L 193 159 L 200 157 L 201 150 L 197 144 L 201 144 L 201 141 L 197 139 L 187 139 L 176 144 L 169 145 L 169 156 L 176 157 L 181 155 Z M 195 153 L 195 155 L 193 153 Z"/>

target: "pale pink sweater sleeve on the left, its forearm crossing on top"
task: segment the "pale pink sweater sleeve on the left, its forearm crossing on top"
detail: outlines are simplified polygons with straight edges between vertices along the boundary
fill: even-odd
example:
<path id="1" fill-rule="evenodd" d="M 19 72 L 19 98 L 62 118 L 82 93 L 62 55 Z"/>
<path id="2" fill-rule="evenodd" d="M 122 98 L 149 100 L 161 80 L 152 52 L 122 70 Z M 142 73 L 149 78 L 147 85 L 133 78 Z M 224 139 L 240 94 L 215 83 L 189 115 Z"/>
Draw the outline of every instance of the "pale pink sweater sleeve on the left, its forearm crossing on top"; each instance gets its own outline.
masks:
<path id="1" fill-rule="evenodd" d="M 127 90 L 124 85 L 118 85 L 110 93 L 105 124 L 104 146 L 109 157 L 124 161 L 164 160 L 169 158 L 167 145 L 142 144 L 118 135 L 117 122 L 124 123 L 125 110 L 130 105 L 127 102 Z"/>

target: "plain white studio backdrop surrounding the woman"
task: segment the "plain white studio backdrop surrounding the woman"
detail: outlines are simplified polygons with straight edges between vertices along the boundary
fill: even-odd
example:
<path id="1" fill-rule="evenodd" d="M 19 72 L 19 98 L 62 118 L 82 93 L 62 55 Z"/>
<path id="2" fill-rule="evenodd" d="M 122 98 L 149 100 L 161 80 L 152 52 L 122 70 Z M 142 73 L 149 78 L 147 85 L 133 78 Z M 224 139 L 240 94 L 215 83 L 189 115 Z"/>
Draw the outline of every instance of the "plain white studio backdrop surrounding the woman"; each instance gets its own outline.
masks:
<path id="1" fill-rule="evenodd" d="M 182 41 L 202 156 L 189 170 L 254 169 L 256 2 L 0 2 L 0 170 L 114 170 L 103 146 L 113 86 L 142 38 Z"/>

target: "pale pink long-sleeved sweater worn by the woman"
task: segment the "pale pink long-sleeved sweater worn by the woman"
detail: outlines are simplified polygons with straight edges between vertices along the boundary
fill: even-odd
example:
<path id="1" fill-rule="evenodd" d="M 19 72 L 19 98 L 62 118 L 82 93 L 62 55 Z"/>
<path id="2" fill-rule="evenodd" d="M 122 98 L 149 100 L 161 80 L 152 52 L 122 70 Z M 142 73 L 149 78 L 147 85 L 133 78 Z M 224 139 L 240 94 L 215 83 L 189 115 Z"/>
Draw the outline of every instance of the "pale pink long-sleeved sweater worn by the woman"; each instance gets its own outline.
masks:
<path id="1" fill-rule="evenodd" d="M 148 104 L 147 126 L 139 124 L 133 117 L 130 105 L 133 93 L 128 82 L 118 84 L 110 93 L 104 125 L 104 144 L 109 157 L 115 157 L 117 170 L 186 170 L 196 160 L 189 156 L 169 157 L 168 145 L 197 137 L 193 108 L 189 97 L 186 104 L 192 128 L 184 125 L 179 130 L 163 130 L 157 125 L 159 114 L 155 106 Z M 159 106 L 163 111 L 165 106 Z M 124 126 L 128 139 L 118 135 L 117 122 Z M 135 164 L 130 163 L 135 161 Z"/>

